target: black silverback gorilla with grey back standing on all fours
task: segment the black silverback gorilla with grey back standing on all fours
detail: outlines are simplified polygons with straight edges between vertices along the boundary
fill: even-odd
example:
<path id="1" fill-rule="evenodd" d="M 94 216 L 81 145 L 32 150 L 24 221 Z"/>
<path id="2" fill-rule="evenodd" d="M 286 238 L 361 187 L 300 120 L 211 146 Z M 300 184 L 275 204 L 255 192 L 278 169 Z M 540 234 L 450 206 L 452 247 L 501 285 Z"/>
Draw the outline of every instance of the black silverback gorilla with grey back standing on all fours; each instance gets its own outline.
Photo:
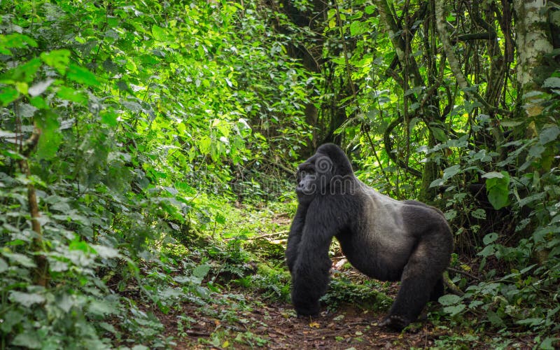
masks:
<path id="1" fill-rule="evenodd" d="M 366 186 L 353 174 L 344 151 L 324 144 L 297 168 L 298 207 L 290 228 L 286 261 L 292 302 L 300 316 L 315 316 L 325 294 L 332 237 L 360 272 L 381 281 L 401 281 L 380 325 L 401 330 L 426 303 L 443 293 L 453 237 L 442 212 L 412 200 L 398 201 Z"/>

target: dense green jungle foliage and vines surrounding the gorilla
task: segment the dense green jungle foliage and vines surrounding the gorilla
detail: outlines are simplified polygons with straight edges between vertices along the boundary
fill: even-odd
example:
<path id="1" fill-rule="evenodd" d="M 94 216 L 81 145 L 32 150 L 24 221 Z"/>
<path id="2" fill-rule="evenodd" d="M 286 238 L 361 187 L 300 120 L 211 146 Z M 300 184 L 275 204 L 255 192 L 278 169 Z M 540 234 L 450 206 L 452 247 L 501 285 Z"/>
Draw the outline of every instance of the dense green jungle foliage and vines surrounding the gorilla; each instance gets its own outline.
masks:
<path id="1" fill-rule="evenodd" d="M 3 1 L 0 347 L 172 346 L 151 307 L 244 309 L 229 288 L 286 300 L 286 228 L 246 212 L 291 216 L 294 165 L 335 141 L 360 179 L 449 219 L 466 293 L 434 322 L 551 348 L 560 7 L 531 27 L 523 6 Z M 535 28 L 550 38 L 536 63 L 524 50 L 544 44 L 515 45 Z M 325 302 L 365 299 L 346 286 Z"/>

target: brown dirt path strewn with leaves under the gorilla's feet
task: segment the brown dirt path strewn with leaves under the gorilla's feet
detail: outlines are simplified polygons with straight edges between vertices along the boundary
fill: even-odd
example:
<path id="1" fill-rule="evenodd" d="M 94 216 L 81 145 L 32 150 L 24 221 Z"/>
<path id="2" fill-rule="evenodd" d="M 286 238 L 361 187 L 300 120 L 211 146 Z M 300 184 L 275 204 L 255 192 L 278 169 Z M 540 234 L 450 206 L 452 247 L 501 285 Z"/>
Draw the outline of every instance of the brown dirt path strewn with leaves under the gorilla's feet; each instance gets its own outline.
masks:
<path id="1" fill-rule="evenodd" d="M 179 314 L 156 316 L 165 325 L 165 335 L 174 337 L 176 349 L 409 349 L 434 345 L 434 339 L 447 331 L 435 329 L 429 322 L 400 334 L 381 328 L 383 314 L 359 311 L 351 305 L 314 319 L 296 318 L 290 304 L 262 304 L 254 309 L 232 311 L 228 305 L 212 305 L 221 316 L 208 316 L 205 309 L 185 305 L 181 315 L 195 320 L 190 328 L 179 331 Z M 230 314 L 229 318 L 223 315 Z"/>

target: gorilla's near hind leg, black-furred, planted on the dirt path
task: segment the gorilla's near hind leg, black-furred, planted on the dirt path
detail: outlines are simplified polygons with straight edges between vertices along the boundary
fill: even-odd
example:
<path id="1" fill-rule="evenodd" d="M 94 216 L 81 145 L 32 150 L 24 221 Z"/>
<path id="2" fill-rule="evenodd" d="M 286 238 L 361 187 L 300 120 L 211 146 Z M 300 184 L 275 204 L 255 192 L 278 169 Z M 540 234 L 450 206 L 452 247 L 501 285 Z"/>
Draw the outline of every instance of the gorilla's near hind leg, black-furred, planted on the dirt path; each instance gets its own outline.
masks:
<path id="1" fill-rule="evenodd" d="M 402 272 L 400 289 L 388 316 L 380 325 L 402 330 L 416 321 L 431 295 L 439 292 L 443 269 L 449 258 L 437 237 L 423 237 Z"/>

